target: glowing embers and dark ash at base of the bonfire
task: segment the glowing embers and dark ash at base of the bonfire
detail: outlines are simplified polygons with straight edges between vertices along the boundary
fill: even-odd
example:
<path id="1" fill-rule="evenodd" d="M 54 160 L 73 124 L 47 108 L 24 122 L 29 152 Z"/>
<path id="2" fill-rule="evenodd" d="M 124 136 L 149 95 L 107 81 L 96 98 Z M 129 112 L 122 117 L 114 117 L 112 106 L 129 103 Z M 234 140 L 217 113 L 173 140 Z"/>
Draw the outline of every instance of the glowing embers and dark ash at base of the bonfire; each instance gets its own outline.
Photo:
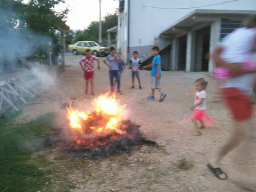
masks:
<path id="1" fill-rule="evenodd" d="M 65 137 L 60 136 L 60 130 L 49 134 L 45 140 L 46 147 L 59 146 L 65 153 L 70 153 L 81 158 L 104 159 L 108 156 L 131 153 L 137 147 L 149 145 L 157 147 L 155 141 L 145 139 L 137 125 L 130 120 L 122 121 L 120 128 L 125 134 L 112 132 L 108 135 L 99 135 L 95 138 L 84 138 L 83 135 L 68 133 Z"/>

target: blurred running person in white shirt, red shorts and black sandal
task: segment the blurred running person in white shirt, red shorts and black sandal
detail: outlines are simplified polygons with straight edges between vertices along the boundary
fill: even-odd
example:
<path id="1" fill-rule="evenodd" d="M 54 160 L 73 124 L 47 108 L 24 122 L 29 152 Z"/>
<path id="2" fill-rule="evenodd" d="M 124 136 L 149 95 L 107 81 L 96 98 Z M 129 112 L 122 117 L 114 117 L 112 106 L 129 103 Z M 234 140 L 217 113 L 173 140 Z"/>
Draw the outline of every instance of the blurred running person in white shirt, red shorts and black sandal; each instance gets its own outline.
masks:
<path id="1" fill-rule="evenodd" d="M 224 78 L 221 84 L 223 100 L 232 114 L 232 132 L 230 137 L 225 139 L 226 143 L 207 164 L 215 176 L 222 180 L 227 179 L 228 176 L 219 167 L 220 160 L 242 142 L 248 144 L 253 140 L 255 126 L 252 123 L 253 106 L 250 95 L 255 83 L 254 73 L 256 71 L 244 68 L 246 68 L 245 62 L 253 58 L 255 48 L 256 14 L 253 14 L 245 20 L 245 27 L 236 29 L 225 36 L 211 54 L 212 60 L 218 66 L 233 73 Z M 254 66 L 255 63 L 252 67 Z M 243 154 L 240 156 L 242 157 Z M 250 191 L 254 190 L 256 188 Z"/>

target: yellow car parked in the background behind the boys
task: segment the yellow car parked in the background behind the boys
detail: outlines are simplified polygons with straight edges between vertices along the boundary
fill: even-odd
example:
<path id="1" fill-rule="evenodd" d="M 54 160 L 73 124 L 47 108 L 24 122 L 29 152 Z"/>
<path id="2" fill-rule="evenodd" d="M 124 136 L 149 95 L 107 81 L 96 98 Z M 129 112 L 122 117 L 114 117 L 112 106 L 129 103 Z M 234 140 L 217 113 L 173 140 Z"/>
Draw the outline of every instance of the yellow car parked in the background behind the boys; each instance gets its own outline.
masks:
<path id="1" fill-rule="evenodd" d="M 94 56 L 109 55 L 109 48 L 101 47 L 94 41 L 78 41 L 74 45 L 69 45 L 69 50 L 74 54 L 84 54 L 87 49 L 90 49 Z"/>

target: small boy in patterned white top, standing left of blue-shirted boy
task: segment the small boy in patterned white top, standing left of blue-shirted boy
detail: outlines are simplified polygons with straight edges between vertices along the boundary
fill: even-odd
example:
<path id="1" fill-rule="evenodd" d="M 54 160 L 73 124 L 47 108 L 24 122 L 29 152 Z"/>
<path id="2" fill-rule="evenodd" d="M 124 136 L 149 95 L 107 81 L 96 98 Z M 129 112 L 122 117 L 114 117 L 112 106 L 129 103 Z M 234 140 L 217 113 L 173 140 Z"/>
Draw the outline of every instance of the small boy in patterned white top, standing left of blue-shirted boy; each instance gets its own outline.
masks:
<path id="1" fill-rule="evenodd" d="M 141 84 L 140 84 L 140 59 L 138 58 L 139 53 L 138 51 L 134 51 L 133 52 L 133 58 L 130 60 L 130 65 L 131 65 L 131 69 L 132 69 L 132 87 L 131 89 L 134 89 L 134 81 L 135 81 L 135 77 L 138 79 L 138 83 L 139 83 L 139 89 L 141 90 Z"/>

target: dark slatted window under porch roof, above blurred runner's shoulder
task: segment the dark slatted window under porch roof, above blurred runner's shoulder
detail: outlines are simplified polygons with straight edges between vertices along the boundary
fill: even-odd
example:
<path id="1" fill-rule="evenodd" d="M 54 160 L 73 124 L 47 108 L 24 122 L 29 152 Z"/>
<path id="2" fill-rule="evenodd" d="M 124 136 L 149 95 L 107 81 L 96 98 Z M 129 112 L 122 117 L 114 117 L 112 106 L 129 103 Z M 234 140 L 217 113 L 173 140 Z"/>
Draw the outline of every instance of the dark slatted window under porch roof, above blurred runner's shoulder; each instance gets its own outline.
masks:
<path id="1" fill-rule="evenodd" d="M 221 19 L 221 39 L 223 39 L 227 34 L 231 33 L 233 30 L 242 27 L 242 19 Z"/>

